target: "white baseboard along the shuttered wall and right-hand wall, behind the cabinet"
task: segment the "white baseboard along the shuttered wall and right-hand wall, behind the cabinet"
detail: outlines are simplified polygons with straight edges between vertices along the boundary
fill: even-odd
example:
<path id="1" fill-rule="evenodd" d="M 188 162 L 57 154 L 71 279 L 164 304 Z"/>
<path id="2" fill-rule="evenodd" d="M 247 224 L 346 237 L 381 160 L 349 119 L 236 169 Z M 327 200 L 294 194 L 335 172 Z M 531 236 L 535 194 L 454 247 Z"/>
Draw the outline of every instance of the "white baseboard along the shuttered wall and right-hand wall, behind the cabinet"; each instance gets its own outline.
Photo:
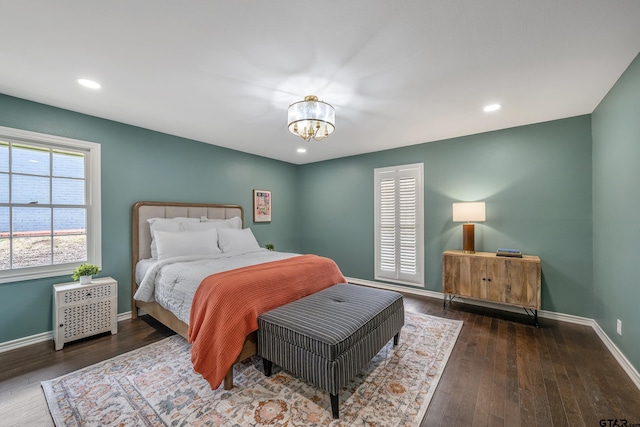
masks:
<path id="1" fill-rule="evenodd" d="M 444 299 L 444 294 L 438 291 L 429 291 L 426 289 L 414 289 L 414 288 L 409 288 L 404 286 L 391 285 L 388 283 L 374 282 L 371 280 L 357 279 L 354 277 L 347 277 L 346 279 L 349 283 L 354 283 L 357 285 L 365 285 L 365 286 L 371 286 L 373 288 L 389 289 L 393 291 L 402 291 L 408 294 L 422 295 L 422 296 L 427 296 L 427 297 L 436 298 L 436 299 Z M 461 298 L 461 297 L 456 297 L 456 301 L 460 301 L 465 304 L 473 304 L 481 307 L 493 308 L 493 309 L 502 310 L 502 311 L 509 311 L 512 313 L 524 312 L 522 309 L 519 309 L 518 307 L 512 307 L 509 305 L 502 305 L 502 304 L 494 304 L 488 301 L 480 301 L 480 300 L 474 300 L 474 299 L 465 300 L 464 298 Z M 594 319 L 589 319 L 588 317 L 574 316 L 572 314 L 545 311 L 545 310 L 538 310 L 538 317 L 551 319 L 551 320 L 558 320 L 561 322 L 575 323 L 578 325 L 591 326 L 595 331 L 595 333 L 598 335 L 598 337 L 600 337 L 600 340 L 607 347 L 611 355 L 618 361 L 618 363 L 620 364 L 622 369 L 624 369 L 627 375 L 629 375 L 629 378 L 631 378 L 631 381 L 633 381 L 636 387 L 640 389 L 640 373 L 638 373 L 638 371 L 634 368 L 631 362 L 629 362 L 629 360 L 624 356 L 624 354 L 622 354 L 620 349 L 614 344 L 613 341 L 611 341 L 611 338 L 609 338 L 609 336 L 602 330 L 600 325 L 598 325 L 598 322 L 596 322 Z"/>

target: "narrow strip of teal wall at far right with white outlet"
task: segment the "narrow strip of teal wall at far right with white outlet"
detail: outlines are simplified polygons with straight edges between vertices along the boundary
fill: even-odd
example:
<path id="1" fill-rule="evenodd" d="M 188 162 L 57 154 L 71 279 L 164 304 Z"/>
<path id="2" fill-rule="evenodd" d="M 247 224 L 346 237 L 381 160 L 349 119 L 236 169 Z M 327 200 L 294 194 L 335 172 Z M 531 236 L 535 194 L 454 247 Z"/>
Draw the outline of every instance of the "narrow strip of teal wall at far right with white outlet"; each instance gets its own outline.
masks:
<path id="1" fill-rule="evenodd" d="M 640 55 L 596 108 L 592 126 L 593 317 L 640 370 Z"/>

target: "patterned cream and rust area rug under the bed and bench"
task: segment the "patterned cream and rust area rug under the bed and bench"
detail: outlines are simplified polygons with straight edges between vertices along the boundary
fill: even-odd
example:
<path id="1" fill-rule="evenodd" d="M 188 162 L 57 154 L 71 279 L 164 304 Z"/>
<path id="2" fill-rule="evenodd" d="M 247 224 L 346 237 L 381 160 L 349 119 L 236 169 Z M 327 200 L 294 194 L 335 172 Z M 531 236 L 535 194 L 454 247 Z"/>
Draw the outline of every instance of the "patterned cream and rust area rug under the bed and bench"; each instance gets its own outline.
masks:
<path id="1" fill-rule="evenodd" d="M 257 356 L 236 364 L 232 390 L 211 390 L 180 336 L 42 388 L 57 426 L 416 426 L 461 328 L 461 321 L 405 313 L 399 345 L 391 340 L 340 392 L 338 420 L 327 393 L 275 366 L 265 377 Z"/>

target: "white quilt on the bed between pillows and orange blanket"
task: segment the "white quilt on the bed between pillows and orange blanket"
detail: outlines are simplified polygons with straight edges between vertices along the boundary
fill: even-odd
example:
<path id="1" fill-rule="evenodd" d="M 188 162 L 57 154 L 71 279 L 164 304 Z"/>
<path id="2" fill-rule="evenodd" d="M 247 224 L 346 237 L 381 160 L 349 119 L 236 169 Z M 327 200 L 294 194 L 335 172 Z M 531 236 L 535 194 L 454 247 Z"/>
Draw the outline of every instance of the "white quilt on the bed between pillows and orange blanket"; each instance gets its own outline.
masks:
<path id="1" fill-rule="evenodd" d="M 142 260 L 136 265 L 136 279 L 142 277 L 134 298 L 157 301 L 184 323 L 189 324 L 191 302 L 202 280 L 214 273 L 248 265 L 291 258 L 299 254 L 258 249 L 226 252 L 211 257 L 174 257 Z"/>

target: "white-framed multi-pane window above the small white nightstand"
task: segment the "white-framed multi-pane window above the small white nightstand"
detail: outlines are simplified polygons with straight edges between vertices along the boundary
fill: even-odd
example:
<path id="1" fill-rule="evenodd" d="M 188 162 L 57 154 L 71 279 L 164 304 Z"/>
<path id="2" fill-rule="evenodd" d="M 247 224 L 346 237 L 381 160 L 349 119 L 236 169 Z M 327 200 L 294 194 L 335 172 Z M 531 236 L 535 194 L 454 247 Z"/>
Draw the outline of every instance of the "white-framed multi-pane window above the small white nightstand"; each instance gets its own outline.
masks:
<path id="1" fill-rule="evenodd" d="M 101 265 L 100 144 L 0 127 L 0 283 Z"/>

